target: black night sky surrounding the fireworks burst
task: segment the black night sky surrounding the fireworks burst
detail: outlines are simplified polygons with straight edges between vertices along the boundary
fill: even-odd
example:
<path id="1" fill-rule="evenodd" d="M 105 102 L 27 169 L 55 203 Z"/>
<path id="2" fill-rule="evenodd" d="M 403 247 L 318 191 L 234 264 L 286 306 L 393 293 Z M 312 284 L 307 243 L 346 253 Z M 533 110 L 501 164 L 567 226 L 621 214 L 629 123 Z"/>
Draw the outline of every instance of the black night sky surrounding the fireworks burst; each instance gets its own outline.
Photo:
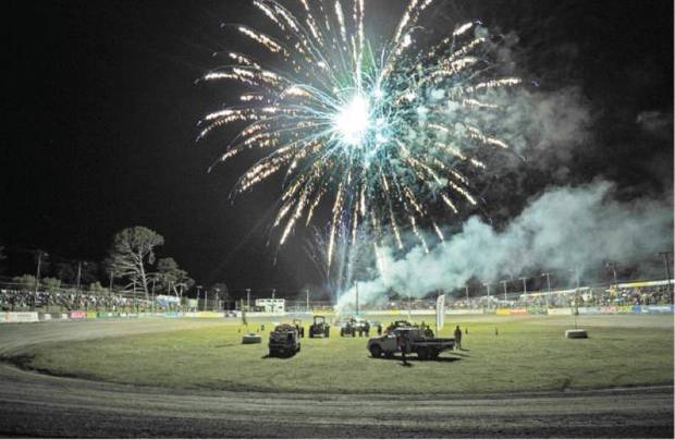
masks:
<path id="1" fill-rule="evenodd" d="M 514 33 L 529 78 L 544 90 L 578 90 L 591 121 L 564 183 L 602 175 L 628 198 L 672 195 L 671 0 L 440 3 L 433 26 L 481 19 Z M 370 37 L 391 35 L 404 5 L 367 5 Z M 25 249 L 100 260 L 115 232 L 140 224 L 164 236 L 160 256 L 205 285 L 293 291 L 316 282 L 303 230 L 279 252 L 267 244 L 278 186 L 232 205 L 247 161 L 207 173 L 234 132 L 195 143 L 197 121 L 236 93 L 195 80 L 218 65 L 213 51 L 248 48 L 220 24 L 263 22 L 249 1 L 11 1 L 4 10 L 5 276 L 33 270 Z M 502 213 L 563 183 L 541 167 L 529 171 L 502 198 Z"/>

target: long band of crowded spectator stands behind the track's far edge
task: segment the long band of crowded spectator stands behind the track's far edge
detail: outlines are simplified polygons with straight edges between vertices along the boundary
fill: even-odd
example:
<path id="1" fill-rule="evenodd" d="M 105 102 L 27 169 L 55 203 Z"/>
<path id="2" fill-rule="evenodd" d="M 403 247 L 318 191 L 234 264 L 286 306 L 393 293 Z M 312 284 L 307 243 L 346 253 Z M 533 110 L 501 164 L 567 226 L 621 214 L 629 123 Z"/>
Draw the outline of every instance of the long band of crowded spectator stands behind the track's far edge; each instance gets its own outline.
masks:
<path id="1" fill-rule="evenodd" d="M 668 285 L 670 284 L 670 285 Z M 510 293 L 505 295 L 451 296 L 447 295 L 446 309 L 452 311 L 471 310 L 494 313 L 495 310 L 528 310 L 545 314 L 548 309 L 570 307 L 627 307 L 627 306 L 667 306 L 672 305 L 672 286 L 674 280 L 634 281 L 628 283 L 579 286 L 578 289 L 537 291 L 529 293 Z M 671 289 L 670 289 L 671 288 Z M 263 307 L 265 300 L 256 300 L 251 313 L 331 313 L 333 306 L 324 301 L 283 302 L 285 307 L 269 309 Z M 265 303 L 267 305 L 267 303 Z M 233 309 L 245 307 L 244 304 L 232 305 Z M 364 311 L 409 311 L 433 313 L 435 296 L 425 298 L 384 298 L 377 303 L 361 303 Z M 226 311 L 223 302 L 210 302 L 201 308 L 196 300 L 180 296 L 148 295 L 134 292 L 116 291 L 79 291 L 75 289 L 27 290 L 5 283 L 0 284 L 0 311 L 42 311 L 69 313 L 74 310 L 94 313 L 187 313 L 187 311 Z M 346 310 L 355 309 L 347 304 Z"/>

